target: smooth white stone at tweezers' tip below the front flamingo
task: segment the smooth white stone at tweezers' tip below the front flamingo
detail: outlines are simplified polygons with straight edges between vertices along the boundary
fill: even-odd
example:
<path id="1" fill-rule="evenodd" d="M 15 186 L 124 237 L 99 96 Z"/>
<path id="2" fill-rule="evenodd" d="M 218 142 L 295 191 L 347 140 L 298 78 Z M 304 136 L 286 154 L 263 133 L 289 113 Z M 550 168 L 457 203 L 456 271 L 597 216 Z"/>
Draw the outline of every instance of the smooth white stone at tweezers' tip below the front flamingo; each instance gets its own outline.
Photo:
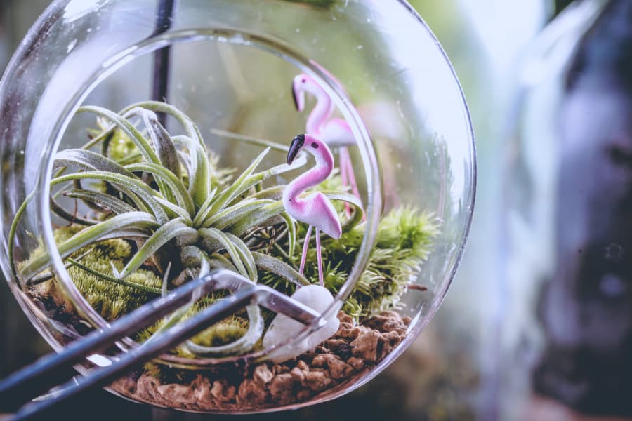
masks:
<path id="1" fill-rule="evenodd" d="M 321 314 L 334 302 L 334 296 L 331 295 L 327 288 L 320 285 L 303 286 L 303 288 L 296 290 L 296 292 L 292 294 L 292 298 L 315 309 Z M 268 331 L 263 335 L 264 348 L 269 348 L 274 345 L 279 346 L 279 349 L 275 349 L 270 353 L 270 360 L 275 363 L 282 363 L 310 349 L 314 349 L 324 340 L 331 338 L 331 336 L 338 331 L 338 326 L 340 326 L 337 313 L 337 311 L 331 312 L 331 316 L 327 318 L 327 324 L 291 348 L 283 347 L 282 345 L 286 345 L 291 340 L 294 340 L 298 333 L 305 328 L 305 325 L 284 314 L 277 314 L 275 319 L 272 320 L 272 323 L 270 323 L 270 328 L 268 328 Z"/>

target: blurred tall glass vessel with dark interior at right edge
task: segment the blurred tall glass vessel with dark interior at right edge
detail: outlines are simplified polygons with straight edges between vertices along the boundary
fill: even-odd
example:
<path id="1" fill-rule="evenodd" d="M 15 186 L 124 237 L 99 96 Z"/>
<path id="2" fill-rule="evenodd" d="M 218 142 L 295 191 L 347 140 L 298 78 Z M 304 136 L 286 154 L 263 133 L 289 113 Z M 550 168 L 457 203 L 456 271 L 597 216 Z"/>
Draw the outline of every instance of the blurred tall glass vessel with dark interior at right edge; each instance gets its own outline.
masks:
<path id="1" fill-rule="evenodd" d="M 523 67 L 506 168 L 503 347 L 506 365 L 525 370 L 503 378 L 514 397 L 504 413 L 546 418 L 554 401 L 632 415 L 622 392 L 632 373 L 631 34 L 629 2 L 577 1 Z"/>

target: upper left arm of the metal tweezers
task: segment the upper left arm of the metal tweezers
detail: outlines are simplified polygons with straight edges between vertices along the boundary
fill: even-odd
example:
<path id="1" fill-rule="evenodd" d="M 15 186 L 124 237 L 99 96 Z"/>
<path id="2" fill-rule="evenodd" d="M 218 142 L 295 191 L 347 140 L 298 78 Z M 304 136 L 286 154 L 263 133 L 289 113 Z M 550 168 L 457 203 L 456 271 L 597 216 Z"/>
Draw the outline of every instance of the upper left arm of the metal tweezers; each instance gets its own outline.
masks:
<path id="1" fill-rule="evenodd" d="M 138 332 L 140 328 L 162 319 L 190 302 L 193 293 L 199 290 L 199 296 L 213 289 L 216 278 L 234 274 L 228 271 L 212 272 L 195 281 L 191 281 L 173 290 L 162 298 L 139 307 L 112 323 L 110 328 L 95 330 L 84 338 L 72 342 L 60 354 L 48 354 L 35 363 L 13 373 L 0 381 L 0 409 L 15 410 L 37 394 L 46 392 L 63 380 L 72 377 L 72 366 L 84 361 L 86 356 L 103 351 L 114 345 L 114 341 Z"/>

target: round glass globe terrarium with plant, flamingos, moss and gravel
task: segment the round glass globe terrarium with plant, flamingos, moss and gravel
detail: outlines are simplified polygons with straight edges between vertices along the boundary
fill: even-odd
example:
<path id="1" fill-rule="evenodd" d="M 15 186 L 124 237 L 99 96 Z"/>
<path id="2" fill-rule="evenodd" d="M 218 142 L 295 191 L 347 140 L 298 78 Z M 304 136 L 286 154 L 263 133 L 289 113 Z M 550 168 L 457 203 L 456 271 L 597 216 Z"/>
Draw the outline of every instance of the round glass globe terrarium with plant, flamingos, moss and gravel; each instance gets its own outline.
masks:
<path id="1" fill-rule="evenodd" d="M 217 269 L 321 314 L 235 309 L 108 388 L 129 399 L 247 413 L 340 396 L 414 340 L 461 258 L 468 110 L 404 1 L 55 1 L 0 101 L 1 264 L 55 349 Z"/>

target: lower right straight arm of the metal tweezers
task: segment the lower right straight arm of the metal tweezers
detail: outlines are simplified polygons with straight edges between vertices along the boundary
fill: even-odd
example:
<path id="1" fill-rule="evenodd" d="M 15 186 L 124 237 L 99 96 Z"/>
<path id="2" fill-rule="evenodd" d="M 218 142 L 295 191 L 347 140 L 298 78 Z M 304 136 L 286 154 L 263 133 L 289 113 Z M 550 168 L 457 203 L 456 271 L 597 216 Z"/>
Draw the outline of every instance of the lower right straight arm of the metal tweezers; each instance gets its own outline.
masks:
<path id="1" fill-rule="evenodd" d="M 185 341 L 192 335 L 199 333 L 213 323 L 225 319 L 234 314 L 236 310 L 242 309 L 254 300 L 252 291 L 249 289 L 237 291 L 234 295 L 225 300 L 221 300 L 210 307 L 199 312 L 191 319 L 187 319 L 176 326 L 167 329 L 162 335 L 144 345 L 131 349 L 126 354 L 122 354 L 118 361 L 111 366 L 95 368 L 85 377 L 79 378 L 77 382 L 71 380 L 62 385 L 60 391 L 51 399 L 43 399 L 29 403 L 20 408 L 13 420 L 34 420 L 47 417 L 49 410 L 66 402 L 70 398 L 77 398 L 93 387 L 103 387 L 116 380 L 124 373 L 138 366 L 143 361 L 148 361 L 154 356 L 162 354 L 173 348 L 175 345 Z M 48 415 L 50 417 L 50 415 Z"/>

